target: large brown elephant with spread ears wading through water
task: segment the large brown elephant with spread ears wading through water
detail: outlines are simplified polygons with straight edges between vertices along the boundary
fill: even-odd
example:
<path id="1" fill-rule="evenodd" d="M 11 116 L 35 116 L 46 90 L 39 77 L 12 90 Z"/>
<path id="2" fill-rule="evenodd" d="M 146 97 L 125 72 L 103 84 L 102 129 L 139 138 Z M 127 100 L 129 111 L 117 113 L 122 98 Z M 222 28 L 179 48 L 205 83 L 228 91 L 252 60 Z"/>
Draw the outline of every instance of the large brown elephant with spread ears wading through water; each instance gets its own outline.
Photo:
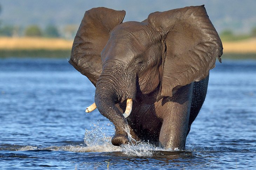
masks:
<path id="1" fill-rule="evenodd" d="M 115 126 L 115 146 L 148 142 L 184 149 L 207 93 L 222 42 L 204 5 L 154 12 L 123 22 L 126 12 L 85 12 L 69 63 L 96 87 L 95 103 Z M 136 143 L 135 142 L 135 143 Z"/>

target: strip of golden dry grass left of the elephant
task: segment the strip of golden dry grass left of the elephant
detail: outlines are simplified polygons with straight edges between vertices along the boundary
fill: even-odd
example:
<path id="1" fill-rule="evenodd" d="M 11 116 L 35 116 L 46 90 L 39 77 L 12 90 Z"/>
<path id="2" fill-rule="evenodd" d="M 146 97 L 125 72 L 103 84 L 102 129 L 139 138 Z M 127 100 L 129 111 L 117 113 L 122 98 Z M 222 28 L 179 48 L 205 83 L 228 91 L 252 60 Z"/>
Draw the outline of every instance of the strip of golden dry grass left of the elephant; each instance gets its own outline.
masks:
<path id="1" fill-rule="evenodd" d="M 0 37 L 1 50 L 71 50 L 72 44 L 73 40 L 60 38 Z"/>

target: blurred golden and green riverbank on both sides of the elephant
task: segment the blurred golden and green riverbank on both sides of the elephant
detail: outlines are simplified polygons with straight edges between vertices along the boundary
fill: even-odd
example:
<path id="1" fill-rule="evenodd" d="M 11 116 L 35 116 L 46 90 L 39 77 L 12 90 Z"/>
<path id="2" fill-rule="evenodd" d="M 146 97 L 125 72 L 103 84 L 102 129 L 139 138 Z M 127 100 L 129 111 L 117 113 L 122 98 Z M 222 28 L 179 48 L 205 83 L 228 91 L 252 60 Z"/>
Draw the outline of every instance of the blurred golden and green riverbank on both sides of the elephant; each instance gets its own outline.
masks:
<path id="1" fill-rule="evenodd" d="M 256 59 L 256 38 L 222 43 L 222 58 Z M 0 57 L 69 58 L 72 44 L 60 38 L 0 37 Z"/>

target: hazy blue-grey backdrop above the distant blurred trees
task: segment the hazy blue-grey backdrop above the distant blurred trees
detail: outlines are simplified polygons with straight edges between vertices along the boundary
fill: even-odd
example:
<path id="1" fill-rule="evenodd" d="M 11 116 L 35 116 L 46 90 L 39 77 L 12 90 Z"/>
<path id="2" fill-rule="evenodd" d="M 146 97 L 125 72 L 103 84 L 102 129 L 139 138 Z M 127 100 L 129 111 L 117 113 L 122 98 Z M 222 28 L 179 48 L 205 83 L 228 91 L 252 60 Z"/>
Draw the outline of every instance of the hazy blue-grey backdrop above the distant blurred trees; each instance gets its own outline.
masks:
<path id="1" fill-rule="evenodd" d="M 205 5 L 207 13 L 220 31 L 226 28 L 248 32 L 256 27 L 256 0 L 1 0 L 2 24 L 79 25 L 86 10 L 108 7 L 126 10 L 124 21 L 143 21 L 155 11 L 185 6 Z"/>

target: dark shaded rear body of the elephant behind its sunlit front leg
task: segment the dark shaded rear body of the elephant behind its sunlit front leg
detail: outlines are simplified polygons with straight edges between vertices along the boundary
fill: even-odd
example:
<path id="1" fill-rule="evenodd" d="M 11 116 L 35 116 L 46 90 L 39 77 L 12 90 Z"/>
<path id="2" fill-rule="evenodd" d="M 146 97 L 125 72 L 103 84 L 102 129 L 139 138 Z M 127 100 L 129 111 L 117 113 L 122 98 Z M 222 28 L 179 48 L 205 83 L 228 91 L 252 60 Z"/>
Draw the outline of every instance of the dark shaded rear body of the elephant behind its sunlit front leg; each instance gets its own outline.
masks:
<path id="1" fill-rule="evenodd" d="M 209 81 L 209 75 L 201 81 L 194 82 L 187 135 L 190 131 L 191 124 L 196 119 L 196 116 L 203 105 L 204 99 L 206 98 L 208 81 Z"/>

